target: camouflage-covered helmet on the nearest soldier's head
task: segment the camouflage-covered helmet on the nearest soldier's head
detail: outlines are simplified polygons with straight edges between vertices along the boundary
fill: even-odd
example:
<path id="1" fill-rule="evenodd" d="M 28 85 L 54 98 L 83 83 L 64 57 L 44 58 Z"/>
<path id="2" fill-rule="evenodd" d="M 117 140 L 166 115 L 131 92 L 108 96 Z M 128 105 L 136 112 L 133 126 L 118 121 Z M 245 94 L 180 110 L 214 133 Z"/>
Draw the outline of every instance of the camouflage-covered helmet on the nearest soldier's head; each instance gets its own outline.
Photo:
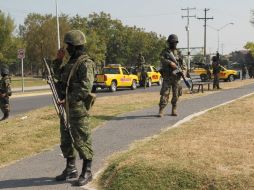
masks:
<path id="1" fill-rule="evenodd" d="M 65 34 L 64 43 L 73 46 L 84 45 L 86 43 L 86 36 L 80 30 L 71 30 Z"/>

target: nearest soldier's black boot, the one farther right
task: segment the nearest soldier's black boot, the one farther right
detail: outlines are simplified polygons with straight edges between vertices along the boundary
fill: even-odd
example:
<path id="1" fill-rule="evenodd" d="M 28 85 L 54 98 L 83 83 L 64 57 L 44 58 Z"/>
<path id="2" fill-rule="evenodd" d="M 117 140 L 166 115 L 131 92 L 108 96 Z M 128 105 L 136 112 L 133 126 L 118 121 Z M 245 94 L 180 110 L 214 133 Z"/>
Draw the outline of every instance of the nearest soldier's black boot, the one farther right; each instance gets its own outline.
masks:
<path id="1" fill-rule="evenodd" d="M 92 181 L 92 160 L 83 160 L 82 172 L 78 178 L 77 186 L 86 185 L 88 182 Z"/>

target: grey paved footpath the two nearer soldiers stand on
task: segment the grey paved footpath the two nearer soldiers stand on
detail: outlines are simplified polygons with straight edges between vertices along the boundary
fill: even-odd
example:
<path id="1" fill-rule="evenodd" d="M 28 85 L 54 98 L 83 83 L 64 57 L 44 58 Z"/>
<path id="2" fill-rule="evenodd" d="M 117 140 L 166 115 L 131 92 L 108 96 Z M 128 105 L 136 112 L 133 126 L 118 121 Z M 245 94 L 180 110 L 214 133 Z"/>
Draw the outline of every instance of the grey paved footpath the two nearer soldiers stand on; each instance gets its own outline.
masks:
<path id="1" fill-rule="evenodd" d="M 183 118 L 222 103 L 254 92 L 254 84 L 241 88 L 222 90 L 211 95 L 188 99 L 179 103 L 179 116 L 158 118 L 158 107 L 135 111 L 114 117 L 93 131 L 95 157 L 94 173 L 105 164 L 111 154 L 128 149 L 134 141 L 158 134 L 162 129 L 174 125 Z M 54 177 L 65 167 L 58 147 L 51 151 L 23 159 L 0 169 L 0 189 L 80 189 L 72 182 L 56 183 Z M 78 163 L 79 169 L 81 162 Z"/>

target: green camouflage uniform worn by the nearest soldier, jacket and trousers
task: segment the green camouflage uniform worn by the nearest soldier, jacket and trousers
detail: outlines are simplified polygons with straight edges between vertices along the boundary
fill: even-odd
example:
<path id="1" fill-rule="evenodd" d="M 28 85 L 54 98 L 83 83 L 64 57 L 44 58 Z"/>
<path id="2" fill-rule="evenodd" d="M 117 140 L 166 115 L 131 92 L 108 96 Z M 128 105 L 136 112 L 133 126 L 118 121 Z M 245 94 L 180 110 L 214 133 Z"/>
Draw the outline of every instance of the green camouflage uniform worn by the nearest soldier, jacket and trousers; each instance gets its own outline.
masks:
<path id="1" fill-rule="evenodd" d="M 73 65 L 78 61 L 78 68 L 70 80 L 68 97 L 65 97 L 65 88 L 68 76 Z M 69 122 L 71 133 L 74 138 L 74 147 L 80 158 L 91 160 L 93 157 L 91 130 L 89 128 L 89 114 L 85 107 L 85 99 L 91 92 L 94 81 L 94 63 L 86 55 L 78 59 L 70 59 L 62 68 L 61 73 L 61 95 L 68 99 Z M 61 125 L 61 150 L 65 158 L 75 157 L 71 138 Z"/>

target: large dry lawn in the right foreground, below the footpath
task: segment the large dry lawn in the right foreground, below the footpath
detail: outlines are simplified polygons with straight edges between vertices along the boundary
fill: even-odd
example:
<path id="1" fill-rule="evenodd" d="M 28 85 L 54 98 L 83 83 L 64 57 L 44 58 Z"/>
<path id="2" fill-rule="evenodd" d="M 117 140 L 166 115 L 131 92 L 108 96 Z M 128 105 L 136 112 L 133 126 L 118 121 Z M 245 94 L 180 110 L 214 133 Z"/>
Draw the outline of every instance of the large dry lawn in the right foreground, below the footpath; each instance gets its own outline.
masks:
<path id="1" fill-rule="evenodd" d="M 136 143 L 114 155 L 106 190 L 254 189 L 254 96 Z"/>

